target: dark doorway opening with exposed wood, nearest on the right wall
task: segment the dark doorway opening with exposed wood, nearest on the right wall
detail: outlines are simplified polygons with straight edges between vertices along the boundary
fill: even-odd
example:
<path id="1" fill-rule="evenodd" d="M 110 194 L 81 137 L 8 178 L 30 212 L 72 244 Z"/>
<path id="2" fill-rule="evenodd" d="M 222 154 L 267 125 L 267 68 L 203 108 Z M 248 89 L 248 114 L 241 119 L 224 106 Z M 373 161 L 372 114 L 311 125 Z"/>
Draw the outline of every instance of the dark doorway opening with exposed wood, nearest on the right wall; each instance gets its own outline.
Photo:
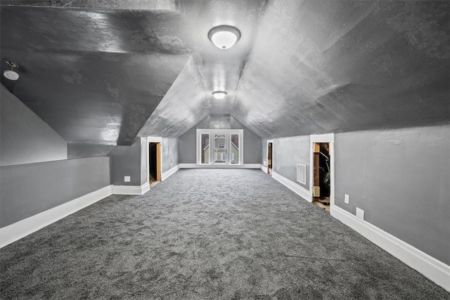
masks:
<path id="1" fill-rule="evenodd" d="M 313 203 L 330 211 L 331 164 L 330 143 L 314 143 Z"/>

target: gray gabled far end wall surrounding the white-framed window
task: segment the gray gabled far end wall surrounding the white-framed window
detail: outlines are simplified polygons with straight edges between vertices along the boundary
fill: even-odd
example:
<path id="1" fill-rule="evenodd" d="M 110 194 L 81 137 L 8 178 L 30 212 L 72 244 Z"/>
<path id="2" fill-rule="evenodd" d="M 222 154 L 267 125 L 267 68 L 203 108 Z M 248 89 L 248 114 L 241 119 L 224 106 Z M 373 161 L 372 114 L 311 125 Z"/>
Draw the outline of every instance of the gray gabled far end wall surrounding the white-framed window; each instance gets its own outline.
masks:
<path id="1" fill-rule="evenodd" d="M 243 129 L 244 164 L 259 164 L 261 161 L 261 138 L 240 124 L 230 115 L 212 115 L 189 129 L 179 138 L 179 162 L 181 164 L 196 163 L 197 129 Z"/>

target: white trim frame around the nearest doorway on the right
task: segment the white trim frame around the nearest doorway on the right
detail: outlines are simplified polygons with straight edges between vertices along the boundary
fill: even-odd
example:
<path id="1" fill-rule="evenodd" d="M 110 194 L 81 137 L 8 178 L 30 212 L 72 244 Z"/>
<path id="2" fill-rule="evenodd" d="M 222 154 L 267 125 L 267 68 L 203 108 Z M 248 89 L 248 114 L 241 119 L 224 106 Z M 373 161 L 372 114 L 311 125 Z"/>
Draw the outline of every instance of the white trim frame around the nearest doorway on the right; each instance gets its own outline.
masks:
<path id="1" fill-rule="evenodd" d="M 330 147 L 330 212 L 335 205 L 335 133 L 309 136 L 309 191 L 314 194 L 314 143 L 328 143 Z M 311 200 L 312 201 L 312 200 Z"/>

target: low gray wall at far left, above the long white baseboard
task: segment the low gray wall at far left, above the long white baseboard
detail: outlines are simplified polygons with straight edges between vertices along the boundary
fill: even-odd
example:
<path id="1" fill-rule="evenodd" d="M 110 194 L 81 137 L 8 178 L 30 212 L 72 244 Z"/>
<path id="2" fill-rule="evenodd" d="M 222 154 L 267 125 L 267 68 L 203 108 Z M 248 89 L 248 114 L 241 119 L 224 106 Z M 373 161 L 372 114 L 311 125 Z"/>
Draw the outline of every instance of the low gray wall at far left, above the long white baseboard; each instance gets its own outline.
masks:
<path id="1" fill-rule="evenodd" d="M 0 168 L 0 227 L 110 185 L 110 158 L 39 162 Z"/>

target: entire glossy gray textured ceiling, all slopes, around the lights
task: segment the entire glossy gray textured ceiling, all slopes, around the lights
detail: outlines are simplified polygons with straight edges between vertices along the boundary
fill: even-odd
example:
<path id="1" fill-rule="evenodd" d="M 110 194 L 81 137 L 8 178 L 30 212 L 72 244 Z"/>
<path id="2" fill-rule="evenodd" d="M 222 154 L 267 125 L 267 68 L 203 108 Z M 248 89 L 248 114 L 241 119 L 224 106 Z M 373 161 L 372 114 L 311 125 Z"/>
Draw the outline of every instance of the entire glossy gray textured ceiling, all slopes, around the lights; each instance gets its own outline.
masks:
<path id="1" fill-rule="evenodd" d="M 450 120 L 449 1 L 1 1 L 1 83 L 70 143 L 232 115 L 264 138 Z M 239 28 L 229 50 L 207 32 Z M 225 90 L 223 100 L 212 91 Z"/>

